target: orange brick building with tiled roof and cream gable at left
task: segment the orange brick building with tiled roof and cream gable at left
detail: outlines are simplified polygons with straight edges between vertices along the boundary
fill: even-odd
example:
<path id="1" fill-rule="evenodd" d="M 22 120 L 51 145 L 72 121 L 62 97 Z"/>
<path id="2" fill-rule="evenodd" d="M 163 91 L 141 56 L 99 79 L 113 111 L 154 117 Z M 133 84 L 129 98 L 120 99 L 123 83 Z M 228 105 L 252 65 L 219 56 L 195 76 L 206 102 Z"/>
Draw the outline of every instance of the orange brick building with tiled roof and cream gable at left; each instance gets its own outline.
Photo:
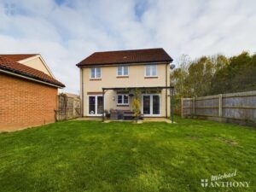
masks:
<path id="1" fill-rule="evenodd" d="M 55 122 L 63 87 L 41 55 L 0 55 L 0 131 Z"/>

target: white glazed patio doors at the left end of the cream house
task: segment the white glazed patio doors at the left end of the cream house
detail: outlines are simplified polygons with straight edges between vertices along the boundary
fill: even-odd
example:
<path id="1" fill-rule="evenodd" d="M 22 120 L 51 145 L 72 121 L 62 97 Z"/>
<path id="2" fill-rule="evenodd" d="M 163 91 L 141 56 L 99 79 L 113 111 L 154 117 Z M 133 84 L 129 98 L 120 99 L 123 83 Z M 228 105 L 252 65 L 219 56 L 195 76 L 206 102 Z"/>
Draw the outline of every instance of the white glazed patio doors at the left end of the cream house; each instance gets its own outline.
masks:
<path id="1" fill-rule="evenodd" d="M 89 116 L 99 116 L 103 112 L 103 97 L 89 96 Z"/>

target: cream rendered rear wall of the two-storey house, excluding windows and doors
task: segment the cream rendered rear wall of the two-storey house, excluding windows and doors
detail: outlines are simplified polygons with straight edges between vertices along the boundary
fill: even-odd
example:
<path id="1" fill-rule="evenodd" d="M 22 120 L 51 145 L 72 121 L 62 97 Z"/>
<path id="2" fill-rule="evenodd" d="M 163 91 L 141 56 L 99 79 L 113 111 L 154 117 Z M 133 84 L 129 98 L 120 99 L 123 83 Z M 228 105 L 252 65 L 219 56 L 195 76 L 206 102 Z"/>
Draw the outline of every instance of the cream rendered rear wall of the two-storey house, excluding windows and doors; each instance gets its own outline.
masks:
<path id="1" fill-rule="evenodd" d="M 150 64 L 150 63 L 148 63 Z M 84 116 L 89 111 L 89 96 L 90 94 L 102 92 L 102 87 L 153 87 L 153 86 L 169 86 L 170 85 L 170 71 L 169 63 L 157 64 L 157 78 L 145 78 L 145 65 L 130 65 L 129 66 L 129 78 L 117 77 L 117 66 L 101 67 L 102 79 L 90 79 L 90 67 L 80 69 L 80 87 L 81 98 L 84 91 Z M 83 73 L 82 73 L 83 71 Z M 166 78 L 167 76 L 167 78 Z M 83 78 L 83 79 L 82 79 Z M 167 84 L 166 84 L 167 79 Z M 84 82 L 84 85 L 82 83 Z M 83 89 L 83 90 L 82 90 Z M 167 91 L 169 95 L 170 91 Z M 113 97 L 115 100 L 113 101 Z M 167 115 L 170 115 L 170 96 L 167 96 Z M 160 115 L 166 116 L 166 90 L 160 92 Z M 117 96 L 113 90 L 108 90 L 105 94 L 104 108 L 109 110 L 110 108 L 116 109 L 131 109 L 130 107 L 117 107 Z"/>

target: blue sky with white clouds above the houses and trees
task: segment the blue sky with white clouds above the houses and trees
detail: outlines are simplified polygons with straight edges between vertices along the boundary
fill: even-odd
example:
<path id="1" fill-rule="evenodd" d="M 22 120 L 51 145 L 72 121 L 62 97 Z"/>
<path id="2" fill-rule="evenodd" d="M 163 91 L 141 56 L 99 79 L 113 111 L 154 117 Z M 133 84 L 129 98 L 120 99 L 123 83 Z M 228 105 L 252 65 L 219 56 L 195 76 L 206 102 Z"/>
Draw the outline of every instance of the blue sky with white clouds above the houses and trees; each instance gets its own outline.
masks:
<path id="1" fill-rule="evenodd" d="M 254 0 L 0 0 L 0 54 L 39 53 L 61 91 L 95 51 L 164 48 L 181 55 L 256 52 Z"/>

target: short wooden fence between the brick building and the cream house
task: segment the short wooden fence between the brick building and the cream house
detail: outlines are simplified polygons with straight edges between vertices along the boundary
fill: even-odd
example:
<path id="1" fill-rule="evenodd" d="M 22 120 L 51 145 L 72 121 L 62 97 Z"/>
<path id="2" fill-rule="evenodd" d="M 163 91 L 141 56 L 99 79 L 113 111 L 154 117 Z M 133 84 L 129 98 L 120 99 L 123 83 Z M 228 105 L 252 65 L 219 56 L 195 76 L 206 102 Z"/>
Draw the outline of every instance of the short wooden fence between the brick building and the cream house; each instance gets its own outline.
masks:
<path id="1" fill-rule="evenodd" d="M 58 96 L 58 109 L 55 110 L 56 120 L 74 119 L 81 116 L 81 100 L 66 94 Z"/>

